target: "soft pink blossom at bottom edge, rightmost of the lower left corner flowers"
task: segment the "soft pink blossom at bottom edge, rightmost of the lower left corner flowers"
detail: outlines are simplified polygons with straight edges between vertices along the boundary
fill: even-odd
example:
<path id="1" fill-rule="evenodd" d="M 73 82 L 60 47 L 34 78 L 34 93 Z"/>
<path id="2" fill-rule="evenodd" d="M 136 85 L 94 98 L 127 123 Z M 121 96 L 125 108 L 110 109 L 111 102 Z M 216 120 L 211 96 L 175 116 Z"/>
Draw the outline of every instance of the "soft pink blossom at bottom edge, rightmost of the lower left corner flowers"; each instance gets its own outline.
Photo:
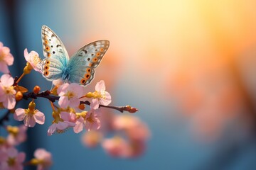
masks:
<path id="1" fill-rule="evenodd" d="M 34 157 L 38 160 L 37 170 L 48 169 L 53 164 L 52 155 L 46 149 L 36 149 Z"/>

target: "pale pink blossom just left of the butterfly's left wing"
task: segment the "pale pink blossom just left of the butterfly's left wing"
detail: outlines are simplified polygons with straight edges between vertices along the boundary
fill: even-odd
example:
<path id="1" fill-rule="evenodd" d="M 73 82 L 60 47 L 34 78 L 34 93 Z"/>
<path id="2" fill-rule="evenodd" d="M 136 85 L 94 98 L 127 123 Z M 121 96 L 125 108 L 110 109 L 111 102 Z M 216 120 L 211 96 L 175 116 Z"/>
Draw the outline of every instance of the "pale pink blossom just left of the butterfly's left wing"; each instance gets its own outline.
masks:
<path id="1" fill-rule="evenodd" d="M 25 49 L 24 50 L 24 57 L 25 57 L 25 60 L 31 64 L 31 67 L 33 67 L 33 69 L 36 71 L 36 72 L 40 72 L 41 74 L 43 73 L 41 71 L 41 58 L 39 57 L 38 53 L 35 52 L 35 51 L 31 51 L 29 54 L 28 54 L 28 50 Z"/>

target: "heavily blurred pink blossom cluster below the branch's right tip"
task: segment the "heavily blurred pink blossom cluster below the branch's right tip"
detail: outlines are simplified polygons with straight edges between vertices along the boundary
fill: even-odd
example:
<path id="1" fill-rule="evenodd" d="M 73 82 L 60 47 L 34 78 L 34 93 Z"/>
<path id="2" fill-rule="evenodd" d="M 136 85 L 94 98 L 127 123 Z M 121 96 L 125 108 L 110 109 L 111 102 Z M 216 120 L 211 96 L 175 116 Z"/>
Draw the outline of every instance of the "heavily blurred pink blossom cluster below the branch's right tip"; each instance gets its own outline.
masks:
<path id="1" fill-rule="evenodd" d="M 82 135 L 82 142 L 87 147 L 101 145 L 112 157 L 131 158 L 144 153 L 150 137 L 146 124 L 132 115 L 105 115 L 110 119 L 102 118 L 105 126 L 107 124 L 104 130 L 91 130 Z"/>

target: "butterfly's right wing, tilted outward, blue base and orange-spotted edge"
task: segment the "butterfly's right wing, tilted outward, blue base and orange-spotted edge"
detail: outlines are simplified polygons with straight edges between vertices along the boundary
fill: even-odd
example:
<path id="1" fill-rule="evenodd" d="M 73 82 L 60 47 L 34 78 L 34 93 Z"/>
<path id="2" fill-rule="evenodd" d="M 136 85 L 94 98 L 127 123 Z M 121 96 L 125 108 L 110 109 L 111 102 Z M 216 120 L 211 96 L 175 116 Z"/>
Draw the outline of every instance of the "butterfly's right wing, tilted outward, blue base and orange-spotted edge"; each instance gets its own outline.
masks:
<path id="1" fill-rule="evenodd" d="M 68 81 L 84 86 L 89 84 L 94 78 L 94 69 L 100 64 L 109 46 L 108 40 L 98 40 L 80 48 L 73 57 L 70 57 L 68 62 L 70 71 Z"/>

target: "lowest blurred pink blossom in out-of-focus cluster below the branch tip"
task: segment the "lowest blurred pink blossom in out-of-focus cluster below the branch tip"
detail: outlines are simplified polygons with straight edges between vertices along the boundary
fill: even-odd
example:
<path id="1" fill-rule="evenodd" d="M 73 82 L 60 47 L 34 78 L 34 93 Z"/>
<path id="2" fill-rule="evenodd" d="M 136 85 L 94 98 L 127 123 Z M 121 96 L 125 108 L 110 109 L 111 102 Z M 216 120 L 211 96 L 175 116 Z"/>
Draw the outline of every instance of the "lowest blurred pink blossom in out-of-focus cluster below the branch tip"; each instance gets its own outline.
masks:
<path id="1" fill-rule="evenodd" d="M 113 157 L 129 157 L 131 154 L 128 143 L 122 137 L 112 137 L 102 142 L 102 147 L 107 154 Z"/>

